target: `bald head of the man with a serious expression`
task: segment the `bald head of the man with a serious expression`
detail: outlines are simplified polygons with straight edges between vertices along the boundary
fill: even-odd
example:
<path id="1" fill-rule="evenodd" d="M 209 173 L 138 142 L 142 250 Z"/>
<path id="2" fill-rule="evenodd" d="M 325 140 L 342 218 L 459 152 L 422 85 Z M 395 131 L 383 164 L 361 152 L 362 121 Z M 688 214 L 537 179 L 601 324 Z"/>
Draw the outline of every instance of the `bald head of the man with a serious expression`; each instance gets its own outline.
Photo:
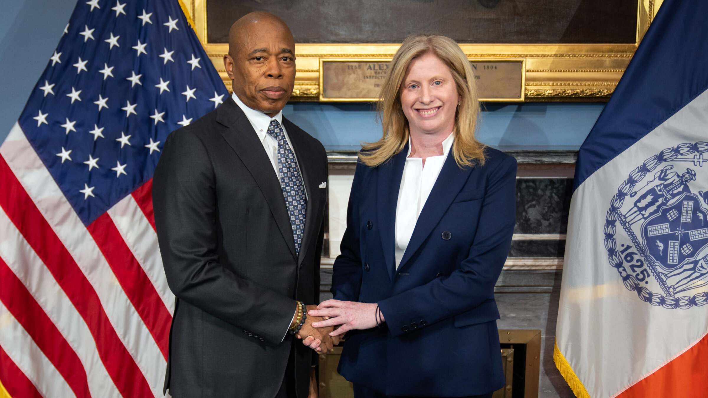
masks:
<path id="1" fill-rule="evenodd" d="M 224 56 L 234 93 L 249 108 L 275 116 L 295 84 L 295 42 L 278 21 L 250 23 L 229 42 Z"/>

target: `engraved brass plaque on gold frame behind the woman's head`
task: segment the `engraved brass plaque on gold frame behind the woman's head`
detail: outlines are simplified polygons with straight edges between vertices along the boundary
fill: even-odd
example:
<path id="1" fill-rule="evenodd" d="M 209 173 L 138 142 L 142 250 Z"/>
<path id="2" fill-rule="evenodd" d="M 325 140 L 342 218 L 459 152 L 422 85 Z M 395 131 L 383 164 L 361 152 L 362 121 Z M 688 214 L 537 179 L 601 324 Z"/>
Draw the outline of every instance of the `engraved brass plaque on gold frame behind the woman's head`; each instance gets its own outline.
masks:
<path id="1" fill-rule="evenodd" d="M 524 101 L 524 59 L 473 60 L 481 101 Z M 321 59 L 319 101 L 377 101 L 389 59 Z"/>

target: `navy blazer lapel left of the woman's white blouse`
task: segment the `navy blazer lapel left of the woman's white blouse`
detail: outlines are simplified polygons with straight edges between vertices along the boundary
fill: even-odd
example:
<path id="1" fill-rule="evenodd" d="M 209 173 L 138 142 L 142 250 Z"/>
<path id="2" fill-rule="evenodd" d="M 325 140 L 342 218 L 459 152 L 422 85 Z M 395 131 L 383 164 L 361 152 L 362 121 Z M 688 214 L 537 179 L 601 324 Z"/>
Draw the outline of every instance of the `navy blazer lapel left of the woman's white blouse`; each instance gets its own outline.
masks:
<path id="1" fill-rule="evenodd" d="M 391 280 L 394 280 L 396 271 L 396 207 L 398 206 L 401 177 L 404 166 L 406 166 L 406 156 L 408 156 L 408 144 L 387 163 L 377 168 L 377 218 L 386 269 Z"/>

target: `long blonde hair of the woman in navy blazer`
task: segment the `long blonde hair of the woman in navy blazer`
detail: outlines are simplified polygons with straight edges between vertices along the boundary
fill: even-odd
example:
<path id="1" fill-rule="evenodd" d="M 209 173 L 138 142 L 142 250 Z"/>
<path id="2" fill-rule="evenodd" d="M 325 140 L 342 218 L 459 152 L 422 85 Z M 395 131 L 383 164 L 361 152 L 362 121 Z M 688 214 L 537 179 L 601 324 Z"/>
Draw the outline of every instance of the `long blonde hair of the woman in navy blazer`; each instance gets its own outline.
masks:
<path id="1" fill-rule="evenodd" d="M 359 160 L 370 167 L 384 164 L 401 152 L 409 139 L 409 124 L 401 106 L 403 79 L 413 59 L 432 53 L 440 58 L 448 68 L 462 103 L 455 112 L 455 141 L 452 154 L 459 167 L 484 164 L 484 144 L 474 137 L 474 129 L 479 114 L 479 96 L 474 81 L 474 72 L 467 56 L 457 42 L 442 35 L 411 35 L 394 55 L 389 73 L 379 93 L 377 108 L 383 135 L 381 140 L 364 144 Z"/>

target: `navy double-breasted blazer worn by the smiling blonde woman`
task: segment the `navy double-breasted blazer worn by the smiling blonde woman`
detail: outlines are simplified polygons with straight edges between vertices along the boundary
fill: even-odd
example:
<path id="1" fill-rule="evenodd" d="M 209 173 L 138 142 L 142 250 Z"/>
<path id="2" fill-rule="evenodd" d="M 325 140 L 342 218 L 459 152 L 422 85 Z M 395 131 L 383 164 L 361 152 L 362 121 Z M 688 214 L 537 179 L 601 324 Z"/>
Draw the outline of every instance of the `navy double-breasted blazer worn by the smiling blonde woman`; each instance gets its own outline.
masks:
<path id="1" fill-rule="evenodd" d="M 504 385 L 493 288 L 515 224 L 516 160 L 486 149 L 460 168 L 452 151 L 395 269 L 395 219 L 408 148 L 357 165 L 336 300 L 377 302 L 387 328 L 350 331 L 338 372 L 388 395 L 459 397 Z"/>

